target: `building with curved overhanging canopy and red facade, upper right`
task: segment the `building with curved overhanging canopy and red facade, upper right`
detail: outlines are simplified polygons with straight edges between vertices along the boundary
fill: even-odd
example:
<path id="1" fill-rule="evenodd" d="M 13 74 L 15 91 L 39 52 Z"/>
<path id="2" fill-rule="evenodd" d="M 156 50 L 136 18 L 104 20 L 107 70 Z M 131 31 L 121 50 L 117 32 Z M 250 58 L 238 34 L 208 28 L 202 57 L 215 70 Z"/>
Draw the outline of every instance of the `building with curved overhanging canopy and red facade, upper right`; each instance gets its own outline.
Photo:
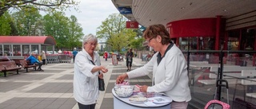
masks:
<path id="1" fill-rule="evenodd" d="M 256 50 L 256 1 L 112 0 L 142 26 L 166 25 L 180 49 Z"/>

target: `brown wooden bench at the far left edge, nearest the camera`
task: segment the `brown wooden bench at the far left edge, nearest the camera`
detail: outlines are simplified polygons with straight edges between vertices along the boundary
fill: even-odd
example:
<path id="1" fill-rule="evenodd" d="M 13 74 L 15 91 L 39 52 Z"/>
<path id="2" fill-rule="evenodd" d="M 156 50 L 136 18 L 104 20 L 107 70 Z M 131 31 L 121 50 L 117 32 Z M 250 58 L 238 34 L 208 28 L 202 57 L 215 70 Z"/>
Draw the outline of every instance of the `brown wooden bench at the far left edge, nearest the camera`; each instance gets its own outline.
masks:
<path id="1" fill-rule="evenodd" d="M 6 72 L 8 71 L 14 71 L 16 70 L 18 74 L 18 69 L 21 69 L 22 67 L 18 67 L 15 63 L 15 61 L 2 61 L 0 62 L 0 71 L 4 73 L 4 76 L 6 77 Z"/>

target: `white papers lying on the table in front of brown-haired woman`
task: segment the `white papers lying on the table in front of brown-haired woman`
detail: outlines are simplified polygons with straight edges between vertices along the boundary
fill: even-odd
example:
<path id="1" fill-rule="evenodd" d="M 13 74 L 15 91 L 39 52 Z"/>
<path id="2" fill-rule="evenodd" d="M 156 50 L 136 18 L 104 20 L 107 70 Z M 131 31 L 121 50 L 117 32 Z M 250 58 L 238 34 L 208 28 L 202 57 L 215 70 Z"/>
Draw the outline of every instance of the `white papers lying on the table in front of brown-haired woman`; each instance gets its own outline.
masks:
<path id="1" fill-rule="evenodd" d="M 158 97 L 152 97 L 152 98 L 148 98 L 147 102 L 145 102 L 145 104 L 147 106 L 155 106 L 156 104 L 161 104 L 161 103 L 170 103 L 171 100 L 169 99 L 164 99 L 160 96 Z"/>

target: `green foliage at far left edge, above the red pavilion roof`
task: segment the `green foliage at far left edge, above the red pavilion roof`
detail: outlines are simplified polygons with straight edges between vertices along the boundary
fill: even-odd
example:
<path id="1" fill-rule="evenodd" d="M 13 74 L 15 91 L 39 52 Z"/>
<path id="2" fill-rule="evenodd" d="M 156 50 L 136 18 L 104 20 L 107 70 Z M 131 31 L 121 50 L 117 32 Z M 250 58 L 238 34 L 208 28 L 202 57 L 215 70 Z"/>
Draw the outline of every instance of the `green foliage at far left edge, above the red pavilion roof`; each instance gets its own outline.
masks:
<path id="1" fill-rule="evenodd" d="M 10 35 L 11 32 L 11 18 L 10 14 L 6 12 L 0 17 L 0 35 Z"/>

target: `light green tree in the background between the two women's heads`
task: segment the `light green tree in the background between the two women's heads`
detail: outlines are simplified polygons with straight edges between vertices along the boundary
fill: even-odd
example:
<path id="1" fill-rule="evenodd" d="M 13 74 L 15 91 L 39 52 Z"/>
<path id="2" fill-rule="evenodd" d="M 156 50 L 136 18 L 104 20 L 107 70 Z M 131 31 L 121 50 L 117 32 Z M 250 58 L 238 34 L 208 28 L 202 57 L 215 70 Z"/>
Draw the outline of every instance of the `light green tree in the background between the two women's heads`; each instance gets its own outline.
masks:
<path id="1" fill-rule="evenodd" d="M 97 37 L 106 40 L 106 45 L 110 45 L 113 51 L 121 52 L 136 36 L 133 29 L 126 29 L 126 21 L 121 14 L 110 14 L 97 28 Z"/>

